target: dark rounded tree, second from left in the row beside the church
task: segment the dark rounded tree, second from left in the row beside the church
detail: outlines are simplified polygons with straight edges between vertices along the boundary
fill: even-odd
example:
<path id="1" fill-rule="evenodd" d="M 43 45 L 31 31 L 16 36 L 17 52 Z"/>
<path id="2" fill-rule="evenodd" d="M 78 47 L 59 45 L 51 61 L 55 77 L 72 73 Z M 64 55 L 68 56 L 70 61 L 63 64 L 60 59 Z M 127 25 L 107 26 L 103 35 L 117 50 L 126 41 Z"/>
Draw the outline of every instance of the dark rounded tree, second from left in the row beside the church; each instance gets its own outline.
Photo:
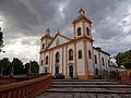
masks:
<path id="1" fill-rule="evenodd" d="M 19 60 L 17 58 L 14 58 L 11 65 L 14 69 L 13 71 L 14 74 L 24 74 L 24 65 L 21 60 Z"/>

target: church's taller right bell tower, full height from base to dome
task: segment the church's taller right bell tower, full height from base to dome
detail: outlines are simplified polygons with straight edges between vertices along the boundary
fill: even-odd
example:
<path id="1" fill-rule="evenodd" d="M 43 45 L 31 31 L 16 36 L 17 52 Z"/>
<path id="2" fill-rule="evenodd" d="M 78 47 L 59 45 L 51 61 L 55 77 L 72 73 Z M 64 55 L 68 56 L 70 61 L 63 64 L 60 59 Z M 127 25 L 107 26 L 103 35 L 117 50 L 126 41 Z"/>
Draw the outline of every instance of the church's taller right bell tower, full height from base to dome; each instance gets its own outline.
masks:
<path id="1" fill-rule="evenodd" d="M 75 54 L 78 54 L 78 51 L 81 46 L 81 50 L 83 50 L 83 64 L 79 61 L 75 61 L 75 68 L 84 68 L 84 70 L 76 70 L 78 74 L 83 73 L 83 78 L 91 78 L 95 76 L 94 69 L 94 50 L 93 50 L 93 38 L 92 38 L 92 22 L 85 17 L 85 11 L 83 9 L 80 9 L 79 11 L 79 17 L 74 19 L 73 21 L 73 27 L 74 27 L 74 40 L 81 40 L 81 42 L 74 41 L 74 49 Z M 79 45 L 82 44 L 82 45 Z M 75 56 L 78 57 L 78 56 Z"/>

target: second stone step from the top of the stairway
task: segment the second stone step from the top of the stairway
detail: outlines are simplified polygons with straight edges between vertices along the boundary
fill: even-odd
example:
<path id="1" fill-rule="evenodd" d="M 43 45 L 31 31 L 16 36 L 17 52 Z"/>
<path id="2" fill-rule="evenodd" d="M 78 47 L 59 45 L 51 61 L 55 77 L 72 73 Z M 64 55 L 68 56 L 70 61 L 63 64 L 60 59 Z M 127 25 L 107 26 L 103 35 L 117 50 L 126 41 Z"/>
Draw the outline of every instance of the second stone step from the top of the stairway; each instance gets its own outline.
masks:
<path id="1" fill-rule="evenodd" d="M 52 82 L 51 85 L 119 85 L 118 82 Z"/>

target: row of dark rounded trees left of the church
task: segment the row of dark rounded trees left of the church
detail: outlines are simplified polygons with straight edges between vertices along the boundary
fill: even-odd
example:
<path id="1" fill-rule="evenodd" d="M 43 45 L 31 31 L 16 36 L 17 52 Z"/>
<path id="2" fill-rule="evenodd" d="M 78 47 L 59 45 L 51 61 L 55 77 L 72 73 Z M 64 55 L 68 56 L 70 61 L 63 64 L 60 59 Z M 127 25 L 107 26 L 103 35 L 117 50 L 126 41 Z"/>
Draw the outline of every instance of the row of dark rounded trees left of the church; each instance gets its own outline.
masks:
<path id="1" fill-rule="evenodd" d="M 3 75 L 10 75 L 13 66 L 13 74 L 26 74 L 29 70 L 29 65 L 32 73 L 38 73 L 39 66 L 36 61 L 23 64 L 17 58 L 14 58 L 12 62 L 10 62 L 8 58 L 3 58 L 0 60 L 0 73 L 2 72 Z"/>

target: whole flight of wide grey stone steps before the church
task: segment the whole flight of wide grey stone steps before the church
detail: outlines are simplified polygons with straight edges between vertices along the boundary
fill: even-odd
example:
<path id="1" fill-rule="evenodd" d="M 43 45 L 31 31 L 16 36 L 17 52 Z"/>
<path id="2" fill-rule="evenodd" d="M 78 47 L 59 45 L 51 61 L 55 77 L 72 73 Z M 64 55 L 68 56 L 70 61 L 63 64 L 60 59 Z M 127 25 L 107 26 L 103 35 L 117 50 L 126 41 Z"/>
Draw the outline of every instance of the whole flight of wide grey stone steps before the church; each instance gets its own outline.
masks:
<path id="1" fill-rule="evenodd" d="M 36 98 L 131 98 L 131 85 L 106 79 L 52 79 Z"/>

